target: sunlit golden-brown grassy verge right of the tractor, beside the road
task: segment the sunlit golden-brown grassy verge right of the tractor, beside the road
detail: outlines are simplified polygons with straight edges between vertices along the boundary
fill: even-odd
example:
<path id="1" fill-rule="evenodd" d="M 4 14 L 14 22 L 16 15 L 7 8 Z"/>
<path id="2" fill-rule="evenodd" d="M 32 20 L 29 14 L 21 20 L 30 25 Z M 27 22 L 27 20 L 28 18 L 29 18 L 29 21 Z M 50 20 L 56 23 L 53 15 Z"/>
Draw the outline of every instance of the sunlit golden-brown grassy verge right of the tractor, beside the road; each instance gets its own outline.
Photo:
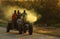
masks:
<path id="1" fill-rule="evenodd" d="M 60 28 L 39 27 L 39 28 L 36 29 L 35 32 L 39 33 L 39 34 L 45 34 L 45 35 L 60 37 Z"/>

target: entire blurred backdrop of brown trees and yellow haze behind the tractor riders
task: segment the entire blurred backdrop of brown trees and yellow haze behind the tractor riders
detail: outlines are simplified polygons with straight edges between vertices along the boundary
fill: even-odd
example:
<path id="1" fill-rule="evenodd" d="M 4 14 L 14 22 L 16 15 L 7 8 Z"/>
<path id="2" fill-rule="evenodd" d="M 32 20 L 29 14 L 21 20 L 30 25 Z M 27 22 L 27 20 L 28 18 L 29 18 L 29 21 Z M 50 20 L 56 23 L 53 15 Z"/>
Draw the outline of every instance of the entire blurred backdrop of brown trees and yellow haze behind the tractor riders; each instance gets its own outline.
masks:
<path id="1" fill-rule="evenodd" d="M 25 9 L 34 18 L 27 19 L 36 25 L 60 27 L 60 0 L 0 0 L 0 24 L 11 18 L 14 9 Z"/>

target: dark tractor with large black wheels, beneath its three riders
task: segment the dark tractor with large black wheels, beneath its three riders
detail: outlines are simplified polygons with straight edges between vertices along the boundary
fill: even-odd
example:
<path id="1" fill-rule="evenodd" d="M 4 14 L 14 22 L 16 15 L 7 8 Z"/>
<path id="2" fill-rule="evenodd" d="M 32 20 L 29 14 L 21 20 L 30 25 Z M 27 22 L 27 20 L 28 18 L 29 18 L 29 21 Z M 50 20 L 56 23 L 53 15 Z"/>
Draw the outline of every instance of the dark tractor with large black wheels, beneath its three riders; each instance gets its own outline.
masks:
<path id="1" fill-rule="evenodd" d="M 13 23 L 12 21 L 8 22 L 7 25 L 7 32 L 10 32 L 10 30 L 18 30 L 19 34 L 29 32 L 29 35 L 32 35 L 33 32 L 33 26 L 29 22 L 22 23 L 20 26 L 18 26 L 17 23 Z"/>

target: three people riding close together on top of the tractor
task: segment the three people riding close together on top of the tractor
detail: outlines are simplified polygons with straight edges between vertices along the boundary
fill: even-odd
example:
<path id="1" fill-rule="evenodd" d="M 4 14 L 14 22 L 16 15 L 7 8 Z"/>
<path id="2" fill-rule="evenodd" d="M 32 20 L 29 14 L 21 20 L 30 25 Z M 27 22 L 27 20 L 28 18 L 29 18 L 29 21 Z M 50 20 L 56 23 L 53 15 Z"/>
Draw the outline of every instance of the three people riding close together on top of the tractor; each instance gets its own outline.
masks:
<path id="1" fill-rule="evenodd" d="M 23 13 L 21 14 L 21 12 L 16 13 L 16 10 L 14 10 L 14 14 L 12 15 L 12 22 L 14 24 L 14 26 L 16 26 L 16 24 L 20 25 L 20 24 L 24 24 L 24 22 L 26 21 L 26 11 L 24 10 Z"/>

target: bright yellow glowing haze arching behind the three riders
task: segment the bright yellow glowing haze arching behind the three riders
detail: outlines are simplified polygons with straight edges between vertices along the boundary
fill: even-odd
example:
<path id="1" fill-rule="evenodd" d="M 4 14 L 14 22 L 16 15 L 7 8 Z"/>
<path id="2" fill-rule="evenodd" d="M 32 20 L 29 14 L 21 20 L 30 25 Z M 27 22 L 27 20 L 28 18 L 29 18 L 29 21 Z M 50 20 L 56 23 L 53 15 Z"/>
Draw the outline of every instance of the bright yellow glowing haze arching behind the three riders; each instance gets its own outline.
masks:
<path id="1" fill-rule="evenodd" d="M 27 9 L 23 9 L 23 8 L 19 8 L 17 6 L 9 6 L 6 8 L 6 10 L 4 9 L 4 14 L 5 14 L 5 18 L 10 20 L 12 17 L 12 14 L 14 13 L 14 10 L 19 10 L 21 13 L 23 12 L 23 10 L 26 10 L 27 16 L 26 16 L 26 20 L 33 23 L 35 21 L 37 21 L 38 16 L 36 15 L 36 12 L 34 12 L 34 10 L 27 10 Z"/>

